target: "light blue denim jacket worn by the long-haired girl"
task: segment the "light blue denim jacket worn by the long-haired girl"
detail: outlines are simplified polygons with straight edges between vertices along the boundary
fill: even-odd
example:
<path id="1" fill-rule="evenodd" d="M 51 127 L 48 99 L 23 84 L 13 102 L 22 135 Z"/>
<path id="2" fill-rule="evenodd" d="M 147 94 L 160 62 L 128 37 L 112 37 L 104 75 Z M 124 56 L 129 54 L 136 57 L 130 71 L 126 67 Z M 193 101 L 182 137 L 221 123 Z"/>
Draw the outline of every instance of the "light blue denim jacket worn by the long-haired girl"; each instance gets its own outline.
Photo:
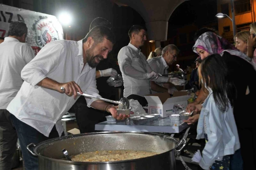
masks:
<path id="1" fill-rule="evenodd" d="M 232 155 L 240 148 L 233 108 L 229 104 L 227 111 L 220 111 L 214 101 L 212 90 L 208 90 L 209 95 L 202 105 L 198 120 L 196 137 L 203 139 L 205 133 L 208 136 L 199 163 L 203 169 L 209 169 L 215 160 L 222 160 L 223 156 Z M 204 130 L 204 120 L 207 132 Z"/>

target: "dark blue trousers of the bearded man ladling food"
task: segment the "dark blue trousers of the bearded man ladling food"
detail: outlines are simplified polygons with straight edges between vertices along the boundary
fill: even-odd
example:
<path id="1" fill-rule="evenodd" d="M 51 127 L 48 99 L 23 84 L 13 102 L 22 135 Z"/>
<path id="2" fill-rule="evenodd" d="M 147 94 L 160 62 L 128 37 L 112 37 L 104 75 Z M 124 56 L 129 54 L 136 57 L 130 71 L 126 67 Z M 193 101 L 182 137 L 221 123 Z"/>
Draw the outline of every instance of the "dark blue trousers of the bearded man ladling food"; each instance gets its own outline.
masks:
<path id="1" fill-rule="evenodd" d="M 25 169 L 38 170 L 38 158 L 33 156 L 27 150 L 26 147 L 31 143 L 38 144 L 44 140 L 59 137 L 56 127 L 54 126 L 49 134 L 49 137 L 46 137 L 42 133 L 38 132 L 35 128 L 17 119 L 12 114 L 11 114 L 11 120 L 18 134 L 18 139 L 19 139 L 21 150 L 22 150 L 23 160 L 25 163 Z M 63 135 L 64 133 L 62 133 L 62 136 Z"/>

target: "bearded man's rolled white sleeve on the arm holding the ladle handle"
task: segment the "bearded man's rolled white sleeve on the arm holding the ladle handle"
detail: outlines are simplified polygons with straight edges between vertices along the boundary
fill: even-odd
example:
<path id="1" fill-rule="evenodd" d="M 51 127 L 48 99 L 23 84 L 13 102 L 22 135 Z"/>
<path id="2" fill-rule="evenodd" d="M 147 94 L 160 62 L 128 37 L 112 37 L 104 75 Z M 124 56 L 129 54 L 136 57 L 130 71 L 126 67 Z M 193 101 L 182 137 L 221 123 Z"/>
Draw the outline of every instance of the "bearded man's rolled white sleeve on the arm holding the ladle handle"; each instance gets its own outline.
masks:
<path id="1" fill-rule="evenodd" d="M 56 42 L 46 44 L 22 69 L 22 79 L 35 87 L 49 73 L 57 69 L 62 56 L 65 56 L 62 44 Z"/>

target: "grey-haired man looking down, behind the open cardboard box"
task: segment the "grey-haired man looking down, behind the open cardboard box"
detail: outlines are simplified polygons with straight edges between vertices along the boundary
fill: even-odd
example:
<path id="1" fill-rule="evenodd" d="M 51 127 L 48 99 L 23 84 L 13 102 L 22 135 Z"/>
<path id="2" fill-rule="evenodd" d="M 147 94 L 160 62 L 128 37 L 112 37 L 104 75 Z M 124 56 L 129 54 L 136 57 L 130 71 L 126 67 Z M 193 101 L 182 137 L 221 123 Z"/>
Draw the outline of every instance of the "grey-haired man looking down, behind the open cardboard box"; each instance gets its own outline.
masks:
<path id="1" fill-rule="evenodd" d="M 168 74 L 169 66 L 177 60 L 178 53 L 179 49 L 177 46 L 174 44 L 169 44 L 163 48 L 162 55 L 160 57 L 148 59 L 147 62 L 153 71 L 160 73 L 161 75 L 166 75 Z M 156 83 L 154 81 L 150 81 L 150 85 L 152 94 L 161 92 L 173 94 L 174 91 L 177 91 L 175 87 L 170 86 L 170 83 Z"/>

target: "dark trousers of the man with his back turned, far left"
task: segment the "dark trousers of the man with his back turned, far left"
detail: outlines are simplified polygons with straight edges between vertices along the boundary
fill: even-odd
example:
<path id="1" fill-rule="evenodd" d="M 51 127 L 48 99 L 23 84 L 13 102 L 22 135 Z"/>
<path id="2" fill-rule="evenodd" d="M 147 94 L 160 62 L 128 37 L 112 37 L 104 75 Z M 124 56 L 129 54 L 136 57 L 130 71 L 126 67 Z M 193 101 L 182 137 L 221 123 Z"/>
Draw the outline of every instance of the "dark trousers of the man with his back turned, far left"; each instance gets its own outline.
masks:
<path id="1" fill-rule="evenodd" d="M 0 109 L 0 170 L 11 170 L 12 157 L 17 148 L 17 133 L 10 115 L 6 109 Z"/>

